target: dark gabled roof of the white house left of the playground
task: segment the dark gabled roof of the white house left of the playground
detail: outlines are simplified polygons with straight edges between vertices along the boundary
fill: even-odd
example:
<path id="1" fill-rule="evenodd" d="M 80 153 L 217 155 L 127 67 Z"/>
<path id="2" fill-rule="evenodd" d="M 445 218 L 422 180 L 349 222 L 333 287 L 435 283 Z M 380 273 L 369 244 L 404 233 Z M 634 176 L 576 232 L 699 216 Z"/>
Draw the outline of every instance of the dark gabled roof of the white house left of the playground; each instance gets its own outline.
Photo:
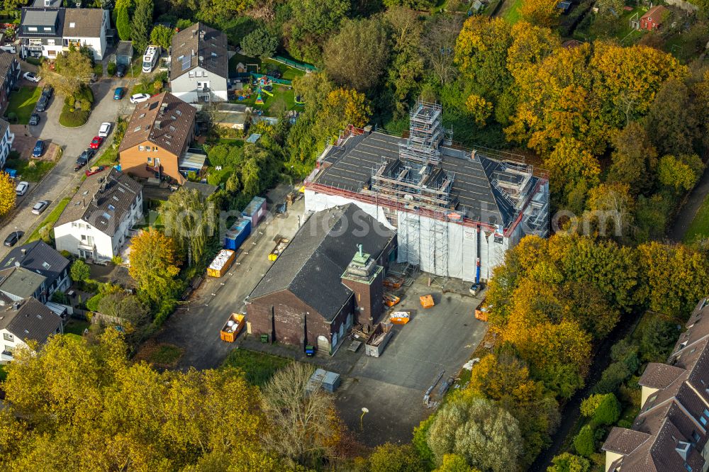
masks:
<path id="1" fill-rule="evenodd" d="M 229 77 L 227 38 L 220 30 L 194 23 L 172 37 L 171 49 L 171 80 L 198 65 L 219 77 Z"/>

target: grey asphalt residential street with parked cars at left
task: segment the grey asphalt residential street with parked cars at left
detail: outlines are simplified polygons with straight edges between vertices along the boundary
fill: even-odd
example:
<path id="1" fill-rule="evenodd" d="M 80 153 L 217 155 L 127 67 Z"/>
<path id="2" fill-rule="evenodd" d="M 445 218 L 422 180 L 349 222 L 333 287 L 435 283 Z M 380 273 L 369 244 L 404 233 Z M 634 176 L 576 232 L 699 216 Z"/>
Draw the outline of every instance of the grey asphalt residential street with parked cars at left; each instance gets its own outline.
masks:
<path id="1" fill-rule="evenodd" d="M 94 110 L 91 111 L 89 121 L 81 128 L 65 128 L 59 124 L 59 115 L 64 104 L 64 99 L 60 96 L 53 96 L 48 110 L 40 113 L 39 125 L 27 127 L 30 135 L 59 145 L 64 150 L 64 154 L 42 181 L 30 182 L 28 192 L 18 198 L 13 216 L 0 228 L 0 240 L 5 240 L 5 237 L 15 229 L 24 231 L 26 236 L 29 235 L 33 228 L 43 221 L 45 215 L 57 205 L 57 202 L 79 186 L 82 173 L 74 172 L 74 164 L 79 154 L 89 146 L 91 139 L 99 133 L 101 123 L 104 121 L 115 123 L 119 114 L 128 114 L 133 110 L 127 98 L 120 101 L 113 100 L 113 89 L 117 86 L 127 86 L 128 83 L 129 81 L 125 79 L 102 79 L 91 84 L 91 89 L 94 91 Z M 110 140 L 111 136 L 108 137 L 109 142 Z M 99 153 L 103 152 L 104 148 L 105 145 Z M 51 205 L 43 215 L 33 215 L 32 207 L 40 200 L 49 200 Z M 0 259 L 5 257 L 9 249 L 0 245 Z"/>

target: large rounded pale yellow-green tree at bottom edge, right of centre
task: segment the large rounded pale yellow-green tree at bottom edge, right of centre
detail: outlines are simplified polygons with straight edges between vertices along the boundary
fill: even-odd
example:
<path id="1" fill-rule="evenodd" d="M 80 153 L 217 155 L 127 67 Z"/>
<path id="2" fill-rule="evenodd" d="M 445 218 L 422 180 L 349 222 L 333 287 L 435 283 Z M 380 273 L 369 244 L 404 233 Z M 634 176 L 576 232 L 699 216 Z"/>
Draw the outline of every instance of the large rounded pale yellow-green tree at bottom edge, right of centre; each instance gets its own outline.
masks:
<path id="1" fill-rule="evenodd" d="M 446 454 L 465 458 L 485 471 L 513 471 L 522 452 L 519 423 L 490 400 L 457 395 L 435 416 L 428 445 L 437 464 Z"/>

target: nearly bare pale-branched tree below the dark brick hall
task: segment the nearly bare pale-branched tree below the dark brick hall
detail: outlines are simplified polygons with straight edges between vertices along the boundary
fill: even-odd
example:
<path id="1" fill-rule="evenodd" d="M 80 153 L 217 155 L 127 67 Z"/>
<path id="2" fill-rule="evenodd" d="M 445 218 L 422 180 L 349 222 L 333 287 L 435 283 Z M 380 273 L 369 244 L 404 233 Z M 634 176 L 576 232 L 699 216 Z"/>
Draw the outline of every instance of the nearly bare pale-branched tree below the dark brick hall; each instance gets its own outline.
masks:
<path id="1" fill-rule="evenodd" d="M 262 440 L 269 449 L 303 465 L 327 454 L 341 434 L 332 395 L 306 391 L 313 367 L 293 362 L 264 386 L 261 407 L 272 427 Z"/>

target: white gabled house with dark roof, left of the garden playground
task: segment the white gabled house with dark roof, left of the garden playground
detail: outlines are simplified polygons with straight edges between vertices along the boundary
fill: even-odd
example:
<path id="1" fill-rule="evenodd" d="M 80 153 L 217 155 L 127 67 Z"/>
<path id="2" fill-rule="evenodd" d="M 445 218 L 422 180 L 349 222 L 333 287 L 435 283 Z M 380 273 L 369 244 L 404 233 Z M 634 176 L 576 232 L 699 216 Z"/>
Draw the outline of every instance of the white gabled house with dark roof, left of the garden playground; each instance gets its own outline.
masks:
<path id="1" fill-rule="evenodd" d="M 188 103 L 227 101 L 229 57 L 224 33 L 195 23 L 172 37 L 170 91 Z"/>

